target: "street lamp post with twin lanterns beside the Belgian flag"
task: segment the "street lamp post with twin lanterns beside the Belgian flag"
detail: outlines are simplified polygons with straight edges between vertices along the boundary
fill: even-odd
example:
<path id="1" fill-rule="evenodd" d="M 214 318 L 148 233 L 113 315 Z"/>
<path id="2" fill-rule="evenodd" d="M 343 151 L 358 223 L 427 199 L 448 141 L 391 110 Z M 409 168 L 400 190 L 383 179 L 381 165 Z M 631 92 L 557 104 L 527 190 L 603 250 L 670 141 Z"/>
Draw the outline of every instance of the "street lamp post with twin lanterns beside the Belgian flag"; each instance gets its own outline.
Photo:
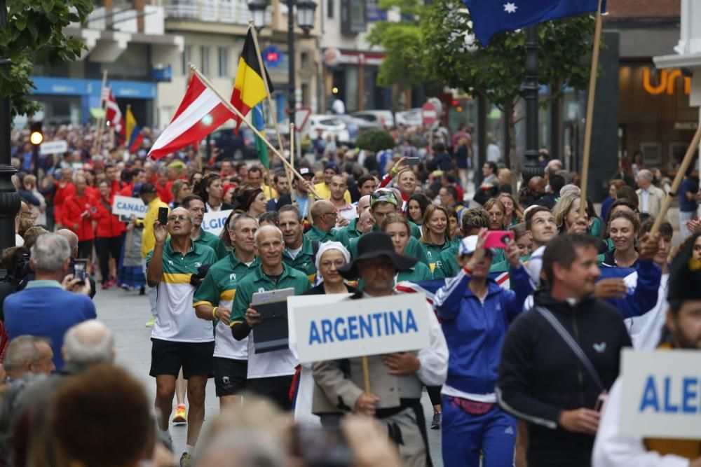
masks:
<path id="1" fill-rule="evenodd" d="M 1 0 L 0 0 L 1 1 Z M 316 4 L 312 0 L 287 0 L 287 105 L 290 108 L 290 122 L 294 123 L 294 111 L 297 108 L 294 78 L 294 7 L 297 6 L 297 25 L 308 34 L 314 27 L 314 12 Z M 265 13 L 268 4 L 266 0 L 250 0 L 248 8 L 253 15 L 253 25 L 256 29 L 265 26 Z M 271 109 L 272 111 L 272 109 Z"/>

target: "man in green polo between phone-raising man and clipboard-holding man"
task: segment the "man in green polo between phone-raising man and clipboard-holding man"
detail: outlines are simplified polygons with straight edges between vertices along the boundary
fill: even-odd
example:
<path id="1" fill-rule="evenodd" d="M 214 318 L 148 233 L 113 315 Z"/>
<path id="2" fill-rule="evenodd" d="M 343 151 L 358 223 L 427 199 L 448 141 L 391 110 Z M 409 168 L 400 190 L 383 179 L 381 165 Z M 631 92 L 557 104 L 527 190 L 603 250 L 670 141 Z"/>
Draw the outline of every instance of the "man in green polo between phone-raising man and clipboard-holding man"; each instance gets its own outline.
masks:
<path id="1" fill-rule="evenodd" d="M 219 407 L 236 403 L 246 388 L 248 340 L 231 335 L 229 319 L 236 286 L 246 274 L 260 265 L 254 251 L 258 221 L 238 214 L 229 221 L 229 238 L 233 250 L 207 271 L 193 298 L 197 316 L 217 321 L 215 326 L 214 371 Z"/>

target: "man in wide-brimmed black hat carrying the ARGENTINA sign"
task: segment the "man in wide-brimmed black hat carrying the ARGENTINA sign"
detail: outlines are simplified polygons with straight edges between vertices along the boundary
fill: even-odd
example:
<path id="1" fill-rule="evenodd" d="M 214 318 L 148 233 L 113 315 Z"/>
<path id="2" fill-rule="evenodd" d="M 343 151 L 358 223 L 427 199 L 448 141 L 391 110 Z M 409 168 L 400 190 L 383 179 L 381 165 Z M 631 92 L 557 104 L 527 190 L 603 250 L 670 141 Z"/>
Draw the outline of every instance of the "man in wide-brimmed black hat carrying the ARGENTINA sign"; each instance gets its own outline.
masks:
<path id="1" fill-rule="evenodd" d="M 385 233 L 369 232 L 358 240 L 358 256 L 339 272 L 346 279 L 360 278 L 365 282 L 365 290 L 351 299 L 385 297 L 394 293 L 395 274 L 410 270 L 416 262 L 416 258 L 395 253 L 392 240 Z M 424 385 L 443 384 L 447 375 L 447 344 L 428 303 L 426 313 L 430 323 L 429 347 L 367 357 L 372 393 L 361 389 L 362 358 L 313 365 L 316 387 L 312 411 L 322 417 L 322 423 L 332 423 L 343 412 L 374 416 L 397 443 L 404 465 L 412 467 L 431 465 L 421 390 Z"/>

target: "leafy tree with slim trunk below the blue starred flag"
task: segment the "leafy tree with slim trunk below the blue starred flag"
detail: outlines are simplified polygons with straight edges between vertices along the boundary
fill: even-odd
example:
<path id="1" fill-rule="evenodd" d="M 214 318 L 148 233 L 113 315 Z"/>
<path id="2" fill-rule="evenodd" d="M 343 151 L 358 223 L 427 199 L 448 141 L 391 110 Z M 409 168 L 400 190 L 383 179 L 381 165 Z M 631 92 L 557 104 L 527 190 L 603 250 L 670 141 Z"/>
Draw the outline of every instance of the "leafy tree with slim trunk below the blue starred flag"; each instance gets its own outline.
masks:
<path id="1" fill-rule="evenodd" d="M 584 89 L 589 83 L 594 15 L 538 25 L 540 83 Z M 474 39 L 472 18 L 461 0 L 436 0 L 421 18 L 423 66 L 435 69 L 442 83 L 473 97 L 486 96 L 507 115 L 524 97 L 526 32 L 502 32 L 489 48 Z M 515 122 L 510 119 L 510 160 L 515 167 Z"/>

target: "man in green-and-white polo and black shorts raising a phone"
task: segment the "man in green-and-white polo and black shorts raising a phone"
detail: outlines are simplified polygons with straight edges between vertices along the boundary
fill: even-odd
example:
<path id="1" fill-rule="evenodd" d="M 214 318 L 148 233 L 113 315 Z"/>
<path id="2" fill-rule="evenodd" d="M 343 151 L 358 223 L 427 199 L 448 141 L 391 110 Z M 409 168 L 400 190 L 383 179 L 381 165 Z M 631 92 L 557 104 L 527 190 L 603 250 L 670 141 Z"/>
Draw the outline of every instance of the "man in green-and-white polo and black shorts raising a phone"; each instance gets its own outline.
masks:
<path id="1" fill-rule="evenodd" d="M 205 419 L 205 386 L 212 372 L 214 330 L 211 323 L 197 319 L 192 309 L 195 286 L 191 276 L 202 265 L 217 262 L 214 250 L 192 242 L 192 216 L 183 207 L 170 211 L 168 224 L 154 222 L 154 249 L 146 257 L 146 281 L 158 287 L 156 323 L 151 331 L 151 371 L 156 378 L 158 425 L 168 431 L 175 379 L 182 367 L 187 379 L 190 413 L 181 466 L 191 465 L 192 451 Z M 168 238 L 170 234 L 170 238 Z"/>

